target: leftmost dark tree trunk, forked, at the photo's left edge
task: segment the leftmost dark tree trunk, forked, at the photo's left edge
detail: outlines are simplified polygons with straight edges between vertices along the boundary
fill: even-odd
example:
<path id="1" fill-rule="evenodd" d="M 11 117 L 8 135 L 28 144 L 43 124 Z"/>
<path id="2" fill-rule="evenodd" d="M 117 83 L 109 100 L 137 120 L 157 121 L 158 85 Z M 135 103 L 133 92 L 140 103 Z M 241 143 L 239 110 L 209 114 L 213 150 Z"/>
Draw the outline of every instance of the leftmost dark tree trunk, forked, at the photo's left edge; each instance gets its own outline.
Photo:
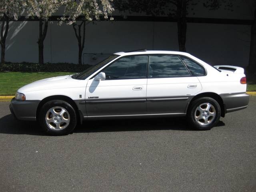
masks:
<path id="1" fill-rule="evenodd" d="M 4 30 L 4 24 L 6 23 L 5 30 Z M 1 28 L 1 39 L 0 39 L 0 44 L 1 44 L 1 64 L 5 63 L 5 42 L 6 42 L 6 37 L 8 34 L 9 30 L 9 18 L 4 15 L 4 20 L 2 21 L 2 28 Z"/>

